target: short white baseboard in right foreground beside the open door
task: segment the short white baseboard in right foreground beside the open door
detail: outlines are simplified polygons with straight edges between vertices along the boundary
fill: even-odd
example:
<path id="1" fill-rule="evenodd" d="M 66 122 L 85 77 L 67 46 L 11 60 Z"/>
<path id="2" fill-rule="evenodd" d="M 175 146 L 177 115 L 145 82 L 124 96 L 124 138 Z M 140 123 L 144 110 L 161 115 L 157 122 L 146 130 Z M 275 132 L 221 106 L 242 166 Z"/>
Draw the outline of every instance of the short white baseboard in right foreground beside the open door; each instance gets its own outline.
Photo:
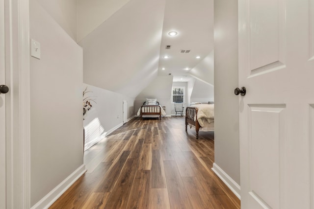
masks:
<path id="1" fill-rule="evenodd" d="M 241 200 L 240 186 L 225 172 L 223 171 L 216 163 L 213 163 L 211 170 L 223 181 L 235 194 L 239 200 Z"/>

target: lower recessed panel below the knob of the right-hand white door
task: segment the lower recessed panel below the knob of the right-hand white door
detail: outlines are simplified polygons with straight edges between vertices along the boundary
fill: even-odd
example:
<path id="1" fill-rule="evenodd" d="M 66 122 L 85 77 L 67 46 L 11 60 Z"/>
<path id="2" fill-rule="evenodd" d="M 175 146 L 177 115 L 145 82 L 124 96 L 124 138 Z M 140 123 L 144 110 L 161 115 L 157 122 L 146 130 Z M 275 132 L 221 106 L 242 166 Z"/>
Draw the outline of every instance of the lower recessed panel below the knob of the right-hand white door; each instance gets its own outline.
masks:
<path id="1" fill-rule="evenodd" d="M 285 105 L 249 105 L 250 208 L 281 208 Z"/>

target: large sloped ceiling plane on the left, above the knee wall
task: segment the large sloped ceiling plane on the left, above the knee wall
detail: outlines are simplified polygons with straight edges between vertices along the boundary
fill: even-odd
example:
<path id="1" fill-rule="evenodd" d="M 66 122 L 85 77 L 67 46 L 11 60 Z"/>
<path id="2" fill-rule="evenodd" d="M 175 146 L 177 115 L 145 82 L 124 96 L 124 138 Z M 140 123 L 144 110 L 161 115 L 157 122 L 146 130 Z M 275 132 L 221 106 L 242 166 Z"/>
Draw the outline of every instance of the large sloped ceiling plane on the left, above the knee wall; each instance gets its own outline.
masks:
<path id="1" fill-rule="evenodd" d="M 84 83 L 136 97 L 157 76 L 165 0 L 130 0 L 78 44 Z"/>

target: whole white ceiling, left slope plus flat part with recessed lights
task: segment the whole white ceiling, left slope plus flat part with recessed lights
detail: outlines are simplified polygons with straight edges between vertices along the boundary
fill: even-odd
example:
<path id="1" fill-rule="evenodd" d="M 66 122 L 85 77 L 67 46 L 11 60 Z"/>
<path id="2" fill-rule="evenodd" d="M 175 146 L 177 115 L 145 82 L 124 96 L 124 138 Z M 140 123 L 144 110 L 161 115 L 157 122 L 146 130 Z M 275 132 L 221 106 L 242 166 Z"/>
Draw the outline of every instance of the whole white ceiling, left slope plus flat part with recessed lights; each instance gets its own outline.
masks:
<path id="1" fill-rule="evenodd" d="M 78 4 L 83 1 L 87 0 Z M 213 0 L 117 1 L 110 17 L 90 18 L 102 23 L 83 31 L 88 35 L 78 42 L 84 52 L 84 83 L 131 97 L 157 76 L 213 84 Z M 84 14 L 78 13 L 82 19 Z M 170 31 L 177 31 L 177 36 L 169 36 Z M 181 53 L 182 49 L 190 51 Z"/>

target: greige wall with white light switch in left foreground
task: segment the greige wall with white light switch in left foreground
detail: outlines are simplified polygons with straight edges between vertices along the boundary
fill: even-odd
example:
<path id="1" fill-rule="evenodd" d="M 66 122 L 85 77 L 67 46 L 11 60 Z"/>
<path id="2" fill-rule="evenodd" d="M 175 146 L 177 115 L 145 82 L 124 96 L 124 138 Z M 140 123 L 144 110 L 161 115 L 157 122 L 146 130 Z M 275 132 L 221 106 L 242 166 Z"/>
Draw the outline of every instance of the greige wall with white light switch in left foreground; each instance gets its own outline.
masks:
<path id="1" fill-rule="evenodd" d="M 83 165 L 82 49 L 38 4 L 30 2 L 31 206 Z"/>

